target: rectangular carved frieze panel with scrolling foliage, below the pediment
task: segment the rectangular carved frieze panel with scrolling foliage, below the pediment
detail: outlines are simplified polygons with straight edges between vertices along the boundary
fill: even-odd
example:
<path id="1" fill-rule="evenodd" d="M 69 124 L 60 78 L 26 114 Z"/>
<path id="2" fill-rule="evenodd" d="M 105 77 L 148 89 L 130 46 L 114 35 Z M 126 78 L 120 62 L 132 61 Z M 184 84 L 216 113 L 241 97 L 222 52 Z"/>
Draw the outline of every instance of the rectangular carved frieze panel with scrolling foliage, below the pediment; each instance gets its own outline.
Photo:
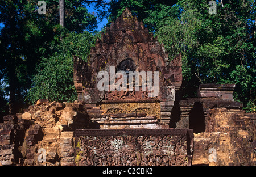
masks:
<path id="1" fill-rule="evenodd" d="M 76 130 L 76 165 L 191 165 L 189 129 Z"/>

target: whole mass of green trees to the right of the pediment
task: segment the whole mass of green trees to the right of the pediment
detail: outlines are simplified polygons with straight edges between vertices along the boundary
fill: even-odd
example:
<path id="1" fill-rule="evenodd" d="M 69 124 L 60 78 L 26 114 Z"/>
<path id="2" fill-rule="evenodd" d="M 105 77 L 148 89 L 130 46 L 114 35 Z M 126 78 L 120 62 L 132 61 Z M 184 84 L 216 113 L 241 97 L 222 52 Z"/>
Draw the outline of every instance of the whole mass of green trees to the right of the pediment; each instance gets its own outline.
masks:
<path id="1" fill-rule="evenodd" d="M 197 96 L 200 83 L 236 83 L 234 98 L 255 111 L 255 1 L 217 2 L 210 15 L 209 1 L 112 1 L 110 19 L 125 7 L 153 32 L 170 53 L 182 54 L 183 96 Z M 118 2 L 118 4 L 116 4 Z M 168 4 L 169 3 L 169 4 Z"/>

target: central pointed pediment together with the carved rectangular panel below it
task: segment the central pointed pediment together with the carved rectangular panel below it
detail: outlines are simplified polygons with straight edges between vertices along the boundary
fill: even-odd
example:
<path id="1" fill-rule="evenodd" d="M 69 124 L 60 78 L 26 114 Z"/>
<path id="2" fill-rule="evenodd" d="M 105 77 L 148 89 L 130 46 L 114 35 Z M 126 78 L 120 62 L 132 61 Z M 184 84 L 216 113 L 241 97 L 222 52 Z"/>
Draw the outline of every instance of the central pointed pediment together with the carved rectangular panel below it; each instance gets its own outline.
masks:
<path id="1" fill-rule="evenodd" d="M 76 165 L 191 165 L 192 130 L 168 125 L 181 81 L 181 56 L 169 62 L 164 46 L 123 11 L 88 62 L 74 58 L 78 98 L 94 123 L 76 130 Z"/>

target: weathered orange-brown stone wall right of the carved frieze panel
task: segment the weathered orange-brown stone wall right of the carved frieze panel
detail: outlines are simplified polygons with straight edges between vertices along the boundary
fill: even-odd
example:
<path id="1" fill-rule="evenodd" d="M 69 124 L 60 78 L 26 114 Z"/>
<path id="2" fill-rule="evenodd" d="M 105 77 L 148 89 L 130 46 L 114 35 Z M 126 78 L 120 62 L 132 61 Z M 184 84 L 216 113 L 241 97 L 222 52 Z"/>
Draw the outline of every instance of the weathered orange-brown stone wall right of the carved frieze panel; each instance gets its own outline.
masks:
<path id="1" fill-rule="evenodd" d="M 193 165 L 256 165 L 255 124 L 245 111 L 207 111 L 205 132 L 194 134 Z"/>

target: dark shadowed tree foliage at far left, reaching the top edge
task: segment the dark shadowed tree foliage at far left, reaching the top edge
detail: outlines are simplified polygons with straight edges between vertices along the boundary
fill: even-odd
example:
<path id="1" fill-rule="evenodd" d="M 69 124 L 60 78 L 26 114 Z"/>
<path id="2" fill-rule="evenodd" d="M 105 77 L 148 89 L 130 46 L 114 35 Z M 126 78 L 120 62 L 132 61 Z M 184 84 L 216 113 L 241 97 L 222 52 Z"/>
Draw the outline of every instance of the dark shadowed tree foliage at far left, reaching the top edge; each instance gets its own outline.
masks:
<path id="1" fill-rule="evenodd" d="M 59 0 L 45 2 L 46 15 L 38 14 L 36 0 L 0 2 L 0 23 L 3 24 L 0 31 L 0 75 L 7 89 L 4 94 L 9 94 L 12 113 L 27 106 L 24 98 L 34 84 L 31 78 L 36 73 L 36 65 L 42 58 L 49 58 L 57 52 L 56 47 L 63 35 L 59 25 Z M 65 27 L 69 31 L 95 31 L 96 16 L 88 13 L 85 2 L 65 1 Z M 73 39 L 75 41 L 76 38 Z"/>

